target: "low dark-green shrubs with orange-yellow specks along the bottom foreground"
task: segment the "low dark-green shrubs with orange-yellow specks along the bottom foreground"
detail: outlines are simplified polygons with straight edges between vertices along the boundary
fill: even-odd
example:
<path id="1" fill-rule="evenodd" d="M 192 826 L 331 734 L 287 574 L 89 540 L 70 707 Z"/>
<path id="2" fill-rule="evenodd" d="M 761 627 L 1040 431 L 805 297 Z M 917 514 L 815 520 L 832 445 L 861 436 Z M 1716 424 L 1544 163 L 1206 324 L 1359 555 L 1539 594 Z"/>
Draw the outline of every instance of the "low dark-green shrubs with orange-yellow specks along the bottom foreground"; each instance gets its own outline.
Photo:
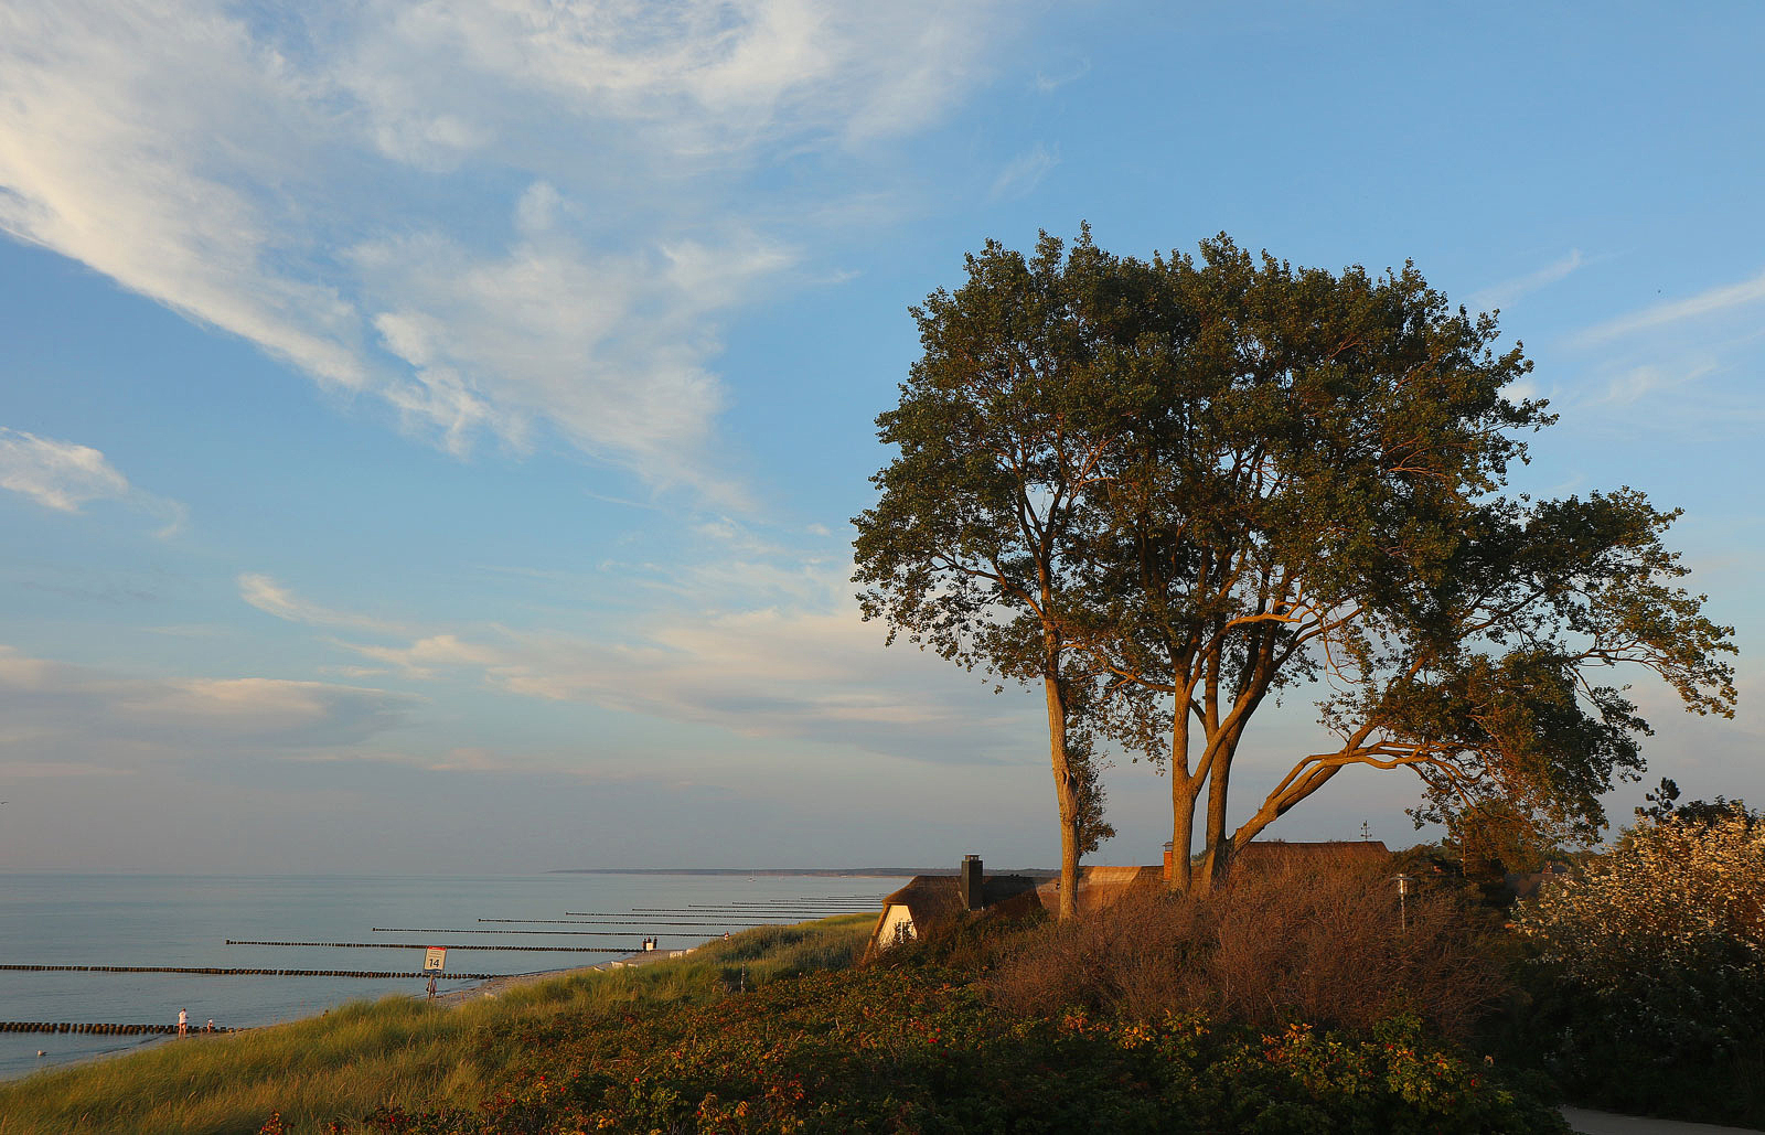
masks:
<path id="1" fill-rule="evenodd" d="M 1555 1112 L 1410 1022 L 1366 1036 L 1200 1017 L 1027 1018 L 962 971 L 872 967 L 681 1013 L 558 1018 L 478 1112 L 383 1110 L 402 1135 L 565 1131 L 1558 1133 Z"/>

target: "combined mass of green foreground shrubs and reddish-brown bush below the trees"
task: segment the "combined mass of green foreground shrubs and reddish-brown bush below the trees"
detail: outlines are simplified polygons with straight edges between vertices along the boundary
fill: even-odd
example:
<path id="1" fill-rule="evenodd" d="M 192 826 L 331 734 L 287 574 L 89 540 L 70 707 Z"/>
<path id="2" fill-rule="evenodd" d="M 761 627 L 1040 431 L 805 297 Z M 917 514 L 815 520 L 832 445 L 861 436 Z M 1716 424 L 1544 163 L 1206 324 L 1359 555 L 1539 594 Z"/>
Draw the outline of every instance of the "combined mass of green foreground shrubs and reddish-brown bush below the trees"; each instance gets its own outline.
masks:
<path id="1" fill-rule="evenodd" d="M 1400 927 L 1386 876 L 964 920 L 715 1004 L 487 1033 L 526 1057 L 485 1107 L 360 1131 L 1566 1131 L 1536 1086 L 1428 1040 L 1476 1015 L 1495 967 L 1446 898 Z"/>

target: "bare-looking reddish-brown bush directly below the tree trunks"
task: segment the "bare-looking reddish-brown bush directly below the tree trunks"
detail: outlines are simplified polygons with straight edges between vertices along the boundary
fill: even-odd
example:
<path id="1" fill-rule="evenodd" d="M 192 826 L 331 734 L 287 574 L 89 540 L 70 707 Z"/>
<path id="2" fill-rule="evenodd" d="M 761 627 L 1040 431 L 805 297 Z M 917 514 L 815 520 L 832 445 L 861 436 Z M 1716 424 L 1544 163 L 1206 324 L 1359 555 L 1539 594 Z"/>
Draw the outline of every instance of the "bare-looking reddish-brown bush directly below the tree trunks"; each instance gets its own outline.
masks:
<path id="1" fill-rule="evenodd" d="M 1428 891 L 1410 898 L 1405 928 L 1389 874 L 1262 870 L 1205 902 L 1130 897 L 1020 934 L 987 987 L 1020 1013 L 1207 1013 L 1264 1029 L 1288 1020 L 1366 1029 L 1412 1013 L 1465 1036 L 1504 987 L 1476 934 L 1481 921 Z"/>

